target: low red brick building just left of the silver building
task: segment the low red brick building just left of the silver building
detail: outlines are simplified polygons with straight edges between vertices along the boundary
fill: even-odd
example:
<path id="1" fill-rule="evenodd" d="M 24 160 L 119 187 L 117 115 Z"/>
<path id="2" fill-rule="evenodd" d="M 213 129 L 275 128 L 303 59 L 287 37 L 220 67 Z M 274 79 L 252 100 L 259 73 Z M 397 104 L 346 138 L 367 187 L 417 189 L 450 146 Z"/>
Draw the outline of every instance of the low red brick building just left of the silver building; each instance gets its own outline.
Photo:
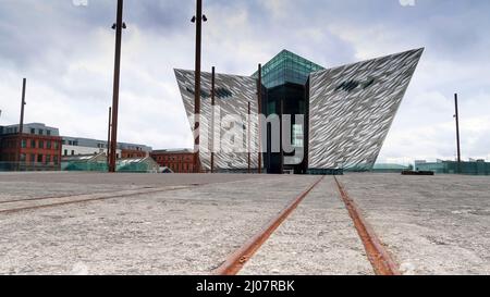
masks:
<path id="1" fill-rule="evenodd" d="M 167 166 L 174 173 L 194 173 L 194 158 L 191 150 L 154 150 L 151 158 L 160 166 Z"/>

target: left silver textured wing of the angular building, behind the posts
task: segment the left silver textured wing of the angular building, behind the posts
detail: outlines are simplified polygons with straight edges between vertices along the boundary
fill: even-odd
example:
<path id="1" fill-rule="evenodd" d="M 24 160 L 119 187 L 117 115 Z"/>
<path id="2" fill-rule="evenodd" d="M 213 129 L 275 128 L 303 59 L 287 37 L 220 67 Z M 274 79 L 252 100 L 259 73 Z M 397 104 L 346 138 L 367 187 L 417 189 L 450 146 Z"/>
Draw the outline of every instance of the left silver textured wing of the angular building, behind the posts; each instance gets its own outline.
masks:
<path id="1" fill-rule="evenodd" d="M 181 90 L 182 99 L 185 106 L 187 116 L 189 119 L 191 129 L 194 131 L 194 82 L 195 72 L 185 70 L 175 70 L 176 81 Z M 240 116 L 245 126 L 248 126 L 248 102 L 250 102 L 252 114 L 258 113 L 257 102 L 257 82 L 253 77 L 237 76 L 228 74 L 216 74 L 216 89 L 219 90 L 219 95 L 216 96 L 216 106 L 220 107 L 220 117 L 223 119 L 230 115 Z M 201 91 L 208 96 L 201 96 L 201 122 L 200 122 L 200 151 L 199 158 L 204 170 L 211 169 L 211 73 L 201 73 Z M 218 119 L 218 115 L 215 115 Z M 217 120 L 218 122 L 219 120 Z M 253 121 L 254 123 L 254 121 Z M 245 127 L 246 128 L 246 127 Z M 240 128 L 243 132 L 243 147 L 246 147 L 247 131 Z M 225 125 L 215 131 L 216 138 L 223 139 L 221 146 L 225 152 L 215 153 L 215 168 L 217 170 L 244 170 L 248 168 L 248 153 L 247 152 L 230 152 L 235 144 L 230 140 L 230 137 L 225 137 L 230 133 L 230 128 Z M 250 146 L 253 151 L 257 151 L 257 125 L 252 125 L 250 129 L 252 141 Z M 224 136 L 224 137 L 223 137 Z M 236 139 L 235 139 L 236 140 Z M 237 144 L 240 146 L 240 144 Z M 207 149 L 209 148 L 209 149 Z M 252 153 L 250 166 L 253 169 L 258 168 L 258 153 Z"/>

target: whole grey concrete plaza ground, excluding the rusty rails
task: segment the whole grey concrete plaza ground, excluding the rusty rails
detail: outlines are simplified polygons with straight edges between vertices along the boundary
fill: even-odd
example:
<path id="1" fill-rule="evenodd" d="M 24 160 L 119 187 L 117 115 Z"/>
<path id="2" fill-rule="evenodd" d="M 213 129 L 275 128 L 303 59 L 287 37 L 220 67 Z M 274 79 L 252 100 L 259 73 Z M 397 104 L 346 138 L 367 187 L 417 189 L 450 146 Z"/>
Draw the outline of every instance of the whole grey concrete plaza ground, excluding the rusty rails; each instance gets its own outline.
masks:
<path id="1" fill-rule="evenodd" d="M 0 274 L 209 274 L 317 178 L 0 173 L 3 208 L 20 199 L 185 187 L 0 213 Z M 340 181 L 403 273 L 490 274 L 490 177 L 347 174 Z M 372 274 L 332 177 L 242 274 Z"/>

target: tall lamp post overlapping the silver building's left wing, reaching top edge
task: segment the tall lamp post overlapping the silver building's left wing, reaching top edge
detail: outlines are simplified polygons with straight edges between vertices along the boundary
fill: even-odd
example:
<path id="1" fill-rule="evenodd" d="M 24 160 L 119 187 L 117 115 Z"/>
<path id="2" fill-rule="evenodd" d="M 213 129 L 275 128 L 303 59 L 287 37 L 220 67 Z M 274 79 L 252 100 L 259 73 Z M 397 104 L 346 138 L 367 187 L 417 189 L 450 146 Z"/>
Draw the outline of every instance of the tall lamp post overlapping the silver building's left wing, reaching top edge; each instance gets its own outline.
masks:
<path id="1" fill-rule="evenodd" d="M 196 65 L 195 65 L 195 89 L 194 89 L 194 172 L 200 172 L 199 147 L 200 147 L 200 54 L 203 46 L 203 21 L 207 22 L 203 15 L 203 0 L 196 1 L 196 15 L 191 22 L 196 24 Z"/>

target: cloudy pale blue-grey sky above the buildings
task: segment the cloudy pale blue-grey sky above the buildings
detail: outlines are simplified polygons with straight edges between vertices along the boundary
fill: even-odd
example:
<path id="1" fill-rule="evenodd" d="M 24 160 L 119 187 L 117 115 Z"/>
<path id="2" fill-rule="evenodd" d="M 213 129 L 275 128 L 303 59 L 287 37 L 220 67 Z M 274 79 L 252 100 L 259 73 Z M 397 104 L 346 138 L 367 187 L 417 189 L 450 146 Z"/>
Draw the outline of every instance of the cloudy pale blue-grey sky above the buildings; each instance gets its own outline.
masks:
<path id="1" fill-rule="evenodd" d="M 115 0 L 0 0 L 0 125 L 107 138 Z M 282 49 L 326 67 L 425 47 L 379 162 L 490 160 L 490 1 L 204 0 L 203 67 L 250 75 Z M 415 5 L 409 5 L 409 3 Z M 86 4 L 86 5 L 85 5 Z M 194 67 L 193 0 L 126 0 L 119 140 L 192 147 L 174 67 Z"/>

